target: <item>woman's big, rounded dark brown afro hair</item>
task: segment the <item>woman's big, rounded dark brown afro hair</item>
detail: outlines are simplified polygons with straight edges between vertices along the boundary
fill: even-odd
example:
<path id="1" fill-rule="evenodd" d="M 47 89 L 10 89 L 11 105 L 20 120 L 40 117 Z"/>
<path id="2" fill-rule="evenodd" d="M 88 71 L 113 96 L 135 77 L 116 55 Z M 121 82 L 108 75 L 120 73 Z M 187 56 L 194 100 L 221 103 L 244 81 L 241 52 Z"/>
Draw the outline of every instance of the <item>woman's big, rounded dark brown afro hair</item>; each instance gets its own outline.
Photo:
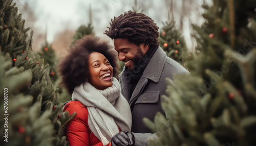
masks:
<path id="1" fill-rule="evenodd" d="M 61 85 L 67 88 L 70 94 L 74 88 L 86 82 L 89 77 L 88 58 L 93 52 L 103 54 L 113 67 L 113 76 L 118 75 L 117 54 L 112 46 L 92 35 L 84 36 L 71 46 L 66 58 L 59 63 Z"/>

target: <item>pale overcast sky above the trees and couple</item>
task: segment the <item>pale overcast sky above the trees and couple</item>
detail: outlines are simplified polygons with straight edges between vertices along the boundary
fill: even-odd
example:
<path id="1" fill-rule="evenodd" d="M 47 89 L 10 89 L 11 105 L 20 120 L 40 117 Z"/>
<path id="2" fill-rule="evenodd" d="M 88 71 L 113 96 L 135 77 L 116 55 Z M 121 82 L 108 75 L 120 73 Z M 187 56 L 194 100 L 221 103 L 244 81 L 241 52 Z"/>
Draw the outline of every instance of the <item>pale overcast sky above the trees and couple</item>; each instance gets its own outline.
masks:
<path id="1" fill-rule="evenodd" d="M 200 7 L 199 1 L 191 6 L 194 8 L 190 12 L 192 17 L 195 17 L 193 13 L 196 13 Z M 92 8 L 92 25 L 96 36 L 108 39 L 103 32 L 106 30 L 106 27 L 110 26 L 109 22 L 111 18 L 132 10 L 134 6 L 134 0 L 14 0 L 14 2 L 17 2 L 20 13 L 27 12 L 24 6 L 25 3 L 28 3 L 28 6 L 35 15 L 33 28 L 39 28 L 33 30 L 35 33 L 45 33 L 47 25 L 48 42 L 52 42 L 55 35 L 59 32 L 66 29 L 76 30 L 79 26 L 89 23 L 90 5 Z M 178 6 L 180 1 L 175 2 L 177 5 L 175 17 L 179 21 L 181 12 L 179 12 Z M 143 8 L 143 13 L 152 17 L 159 28 L 163 26 L 162 22 L 166 21 L 168 17 L 169 6 L 167 3 L 168 1 L 166 0 L 138 0 L 138 6 Z M 26 18 L 24 19 L 26 20 Z M 29 25 L 30 23 L 27 24 L 27 27 L 31 27 Z M 189 39 L 190 32 L 188 25 L 184 27 L 184 34 L 185 39 Z M 191 43 L 188 41 L 187 45 L 191 45 Z"/>

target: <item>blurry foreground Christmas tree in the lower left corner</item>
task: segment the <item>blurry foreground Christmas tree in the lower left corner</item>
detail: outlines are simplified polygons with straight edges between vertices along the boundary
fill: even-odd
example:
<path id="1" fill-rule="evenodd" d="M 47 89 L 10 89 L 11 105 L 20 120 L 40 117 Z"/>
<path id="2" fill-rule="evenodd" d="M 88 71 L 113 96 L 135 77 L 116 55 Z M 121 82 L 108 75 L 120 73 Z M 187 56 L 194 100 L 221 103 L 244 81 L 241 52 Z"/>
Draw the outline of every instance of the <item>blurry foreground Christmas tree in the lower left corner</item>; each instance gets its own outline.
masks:
<path id="1" fill-rule="evenodd" d="M 31 81 L 31 70 L 13 67 L 0 55 L 0 90 L 4 98 L 0 101 L 1 143 L 4 145 L 52 145 L 53 125 L 48 118 L 50 110 L 40 113 L 41 103 L 32 105 L 33 97 L 24 93 Z M 43 122 L 42 122 L 43 121 Z"/>

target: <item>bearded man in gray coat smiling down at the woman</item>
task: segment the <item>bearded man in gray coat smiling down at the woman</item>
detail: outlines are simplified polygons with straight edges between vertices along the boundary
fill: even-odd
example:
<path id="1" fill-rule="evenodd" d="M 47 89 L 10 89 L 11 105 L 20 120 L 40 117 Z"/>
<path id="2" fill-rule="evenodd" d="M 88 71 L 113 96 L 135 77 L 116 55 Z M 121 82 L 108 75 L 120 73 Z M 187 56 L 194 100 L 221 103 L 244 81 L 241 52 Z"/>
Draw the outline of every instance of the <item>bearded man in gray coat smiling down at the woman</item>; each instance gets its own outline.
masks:
<path id="1" fill-rule="evenodd" d="M 109 31 L 105 31 L 114 39 L 118 59 L 125 64 L 119 82 L 133 118 L 132 133 L 119 132 L 112 138 L 112 145 L 147 145 L 147 139 L 154 134 L 142 119 L 154 120 L 157 112 L 163 113 L 160 97 L 165 94 L 165 78 L 188 73 L 179 63 L 166 57 L 159 46 L 158 29 L 150 17 L 128 11 L 114 17 Z"/>

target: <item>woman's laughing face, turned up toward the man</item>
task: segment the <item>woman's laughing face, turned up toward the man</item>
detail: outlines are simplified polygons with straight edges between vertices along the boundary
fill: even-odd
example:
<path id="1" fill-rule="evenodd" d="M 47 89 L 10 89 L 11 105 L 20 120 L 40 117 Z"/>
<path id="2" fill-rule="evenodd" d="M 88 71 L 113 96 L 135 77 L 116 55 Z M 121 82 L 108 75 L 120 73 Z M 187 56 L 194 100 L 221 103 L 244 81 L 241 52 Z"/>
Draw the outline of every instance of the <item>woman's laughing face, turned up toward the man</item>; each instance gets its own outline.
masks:
<path id="1" fill-rule="evenodd" d="M 113 67 L 103 54 L 98 52 L 91 53 L 88 65 L 90 73 L 88 82 L 96 89 L 104 90 L 113 85 Z"/>

